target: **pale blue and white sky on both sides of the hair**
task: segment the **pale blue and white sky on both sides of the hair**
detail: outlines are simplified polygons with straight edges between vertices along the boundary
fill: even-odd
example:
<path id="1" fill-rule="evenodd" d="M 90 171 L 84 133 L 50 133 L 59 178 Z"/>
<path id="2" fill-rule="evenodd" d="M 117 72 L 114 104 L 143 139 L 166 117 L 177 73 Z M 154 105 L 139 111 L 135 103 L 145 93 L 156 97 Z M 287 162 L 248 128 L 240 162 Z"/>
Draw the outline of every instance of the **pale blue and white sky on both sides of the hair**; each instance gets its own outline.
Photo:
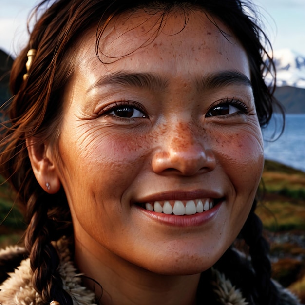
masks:
<path id="1" fill-rule="evenodd" d="M 13 57 L 26 44 L 26 20 L 39 0 L 0 0 L 0 49 Z M 264 16 L 274 50 L 289 48 L 305 56 L 305 0 L 252 0 Z"/>

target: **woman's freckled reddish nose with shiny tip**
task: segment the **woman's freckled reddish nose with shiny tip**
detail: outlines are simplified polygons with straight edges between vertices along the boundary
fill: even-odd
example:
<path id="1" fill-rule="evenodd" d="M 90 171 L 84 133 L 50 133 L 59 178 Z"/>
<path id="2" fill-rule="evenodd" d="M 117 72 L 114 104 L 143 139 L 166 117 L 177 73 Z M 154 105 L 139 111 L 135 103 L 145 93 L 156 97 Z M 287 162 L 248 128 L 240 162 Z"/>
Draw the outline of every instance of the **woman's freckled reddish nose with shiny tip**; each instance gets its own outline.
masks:
<path id="1" fill-rule="evenodd" d="M 215 155 L 204 131 L 195 132 L 190 124 L 183 123 L 167 126 L 166 130 L 152 157 L 154 172 L 191 176 L 215 168 Z"/>

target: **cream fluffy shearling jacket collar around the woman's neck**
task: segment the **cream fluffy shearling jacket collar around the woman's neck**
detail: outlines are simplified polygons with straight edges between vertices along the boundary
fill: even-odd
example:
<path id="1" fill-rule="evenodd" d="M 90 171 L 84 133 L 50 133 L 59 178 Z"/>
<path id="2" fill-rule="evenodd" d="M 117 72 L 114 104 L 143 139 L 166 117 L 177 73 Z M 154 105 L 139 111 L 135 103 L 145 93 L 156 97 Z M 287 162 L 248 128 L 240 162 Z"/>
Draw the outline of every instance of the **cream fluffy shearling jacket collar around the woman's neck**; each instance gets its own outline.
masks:
<path id="1" fill-rule="evenodd" d="M 96 305 L 95 295 L 83 287 L 81 278 L 70 260 L 66 240 L 57 242 L 57 251 L 60 257 L 59 273 L 62 277 L 64 289 L 70 294 L 74 305 Z M 0 268 L 12 257 L 24 252 L 20 247 L 8 247 L 0 250 Z M 4 263 L 3 263 L 4 262 Z M 29 258 L 21 261 L 14 272 L 0 284 L 0 305 L 45 305 L 39 294 L 31 284 L 33 272 Z M 233 286 L 224 274 L 212 270 L 212 286 L 215 293 L 215 303 L 223 305 L 247 305 L 241 291 Z M 281 305 L 299 305 L 296 298 L 286 289 L 280 288 Z"/>

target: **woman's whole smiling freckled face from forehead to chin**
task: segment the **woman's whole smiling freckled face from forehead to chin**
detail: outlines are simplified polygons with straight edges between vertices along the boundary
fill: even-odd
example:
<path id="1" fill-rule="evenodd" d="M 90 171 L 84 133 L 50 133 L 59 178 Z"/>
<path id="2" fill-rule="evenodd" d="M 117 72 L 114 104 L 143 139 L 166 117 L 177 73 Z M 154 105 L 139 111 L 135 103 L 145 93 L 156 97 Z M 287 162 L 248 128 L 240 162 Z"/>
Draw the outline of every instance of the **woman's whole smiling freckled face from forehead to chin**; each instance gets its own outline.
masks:
<path id="1" fill-rule="evenodd" d="M 101 260 L 198 273 L 240 232 L 261 177 L 247 54 L 200 11 L 182 31 L 171 15 L 154 40 L 158 16 L 127 17 L 100 42 L 125 56 L 102 64 L 94 29 L 64 96 L 58 175 L 76 243 Z"/>

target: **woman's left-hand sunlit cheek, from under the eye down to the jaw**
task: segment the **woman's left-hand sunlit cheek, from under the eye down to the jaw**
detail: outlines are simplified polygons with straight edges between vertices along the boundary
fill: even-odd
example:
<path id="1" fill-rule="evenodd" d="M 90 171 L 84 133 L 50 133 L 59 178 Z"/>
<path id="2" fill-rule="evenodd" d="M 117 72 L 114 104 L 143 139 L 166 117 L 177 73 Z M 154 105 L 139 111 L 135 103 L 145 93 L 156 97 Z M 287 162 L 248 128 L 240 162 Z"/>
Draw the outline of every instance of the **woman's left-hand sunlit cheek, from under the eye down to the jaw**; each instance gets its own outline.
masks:
<path id="1" fill-rule="evenodd" d="M 121 215 L 129 213 L 122 202 L 143 168 L 143 141 L 131 133 L 98 128 L 73 136 L 62 138 L 60 155 L 64 165 L 62 184 L 75 226 L 80 224 L 88 232 L 108 236 L 118 230 Z M 96 226 L 97 222 L 104 226 Z"/>

